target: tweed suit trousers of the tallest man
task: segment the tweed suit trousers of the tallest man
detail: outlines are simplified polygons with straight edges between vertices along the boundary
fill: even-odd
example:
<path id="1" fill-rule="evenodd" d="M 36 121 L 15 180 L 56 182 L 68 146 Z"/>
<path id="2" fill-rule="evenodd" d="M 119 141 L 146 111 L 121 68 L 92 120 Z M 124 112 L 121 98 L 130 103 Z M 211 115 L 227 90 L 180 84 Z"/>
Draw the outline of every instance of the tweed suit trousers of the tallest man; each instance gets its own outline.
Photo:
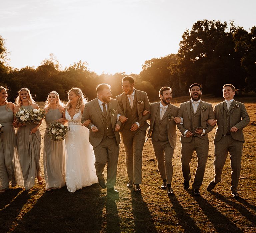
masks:
<path id="1" fill-rule="evenodd" d="M 140 129 L 131 131 L 122 129 L 121 138 L 125 149 L 126 169 L 128 179 L 134 184 L 141 184 L 142 180 L 142 151 L 145 143 L 146 131 Z"/>

